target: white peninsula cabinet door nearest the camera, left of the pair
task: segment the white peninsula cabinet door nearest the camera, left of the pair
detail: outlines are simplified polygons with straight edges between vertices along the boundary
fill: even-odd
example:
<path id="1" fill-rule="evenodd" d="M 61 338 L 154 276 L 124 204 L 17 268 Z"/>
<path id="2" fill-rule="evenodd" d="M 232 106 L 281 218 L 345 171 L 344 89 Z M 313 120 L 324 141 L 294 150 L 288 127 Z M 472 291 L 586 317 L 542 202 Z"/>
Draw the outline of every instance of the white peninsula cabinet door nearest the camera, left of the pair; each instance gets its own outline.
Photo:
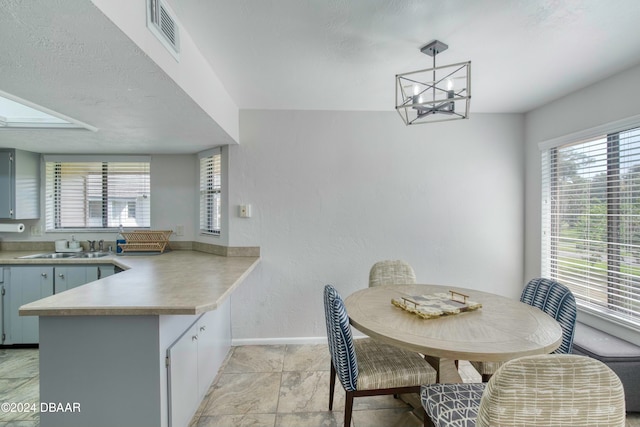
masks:
<path id="1" fill-rule="evenodd" d="M 167 350 L 169 426 L 189 425 L 198 409 L 198 328 L 192 325 Z"/>

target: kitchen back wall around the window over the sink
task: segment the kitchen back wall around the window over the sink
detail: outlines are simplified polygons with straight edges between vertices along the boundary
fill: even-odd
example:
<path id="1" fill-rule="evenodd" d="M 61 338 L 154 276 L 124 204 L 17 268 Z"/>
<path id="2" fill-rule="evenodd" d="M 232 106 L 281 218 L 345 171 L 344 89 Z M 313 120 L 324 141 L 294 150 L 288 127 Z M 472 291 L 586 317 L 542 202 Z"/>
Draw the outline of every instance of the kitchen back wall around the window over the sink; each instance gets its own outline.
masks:
<path id="1" fill-rule="evenodd" d="M 198 232 L 198 159 L 194 154 L 154 154 L 151 156 L 151 229 L 173 230 L 184 225 L 184 236 L 172 235 L 170 240 L 192 241 Z M 77 240 L 115 240 L 109 232 L 54 232 L 32 236 L 31 228 L 45 228 L 44 179 L 41 180 L 40 220 L 5 221 L 22 222 L 24 233 L 0 233 L 0 240 L 53 241 L 68 239 L 73 234 Z"/>

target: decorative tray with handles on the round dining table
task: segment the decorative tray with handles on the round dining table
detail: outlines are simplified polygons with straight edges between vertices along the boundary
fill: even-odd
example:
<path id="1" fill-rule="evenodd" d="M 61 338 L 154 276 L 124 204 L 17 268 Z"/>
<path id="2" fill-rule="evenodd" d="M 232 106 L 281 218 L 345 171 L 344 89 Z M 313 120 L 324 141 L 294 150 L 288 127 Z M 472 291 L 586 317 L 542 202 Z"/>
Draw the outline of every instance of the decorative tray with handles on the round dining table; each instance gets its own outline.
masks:
<path id="1" fill-rule="evenodd" d="M 470 301 L 468 298 L 468 295 L 449 291 L 448 294 L 441 292 L 393 298 L 391 304 L 423 319 L 433 319 L 482 307 L 482 304 Z"/>

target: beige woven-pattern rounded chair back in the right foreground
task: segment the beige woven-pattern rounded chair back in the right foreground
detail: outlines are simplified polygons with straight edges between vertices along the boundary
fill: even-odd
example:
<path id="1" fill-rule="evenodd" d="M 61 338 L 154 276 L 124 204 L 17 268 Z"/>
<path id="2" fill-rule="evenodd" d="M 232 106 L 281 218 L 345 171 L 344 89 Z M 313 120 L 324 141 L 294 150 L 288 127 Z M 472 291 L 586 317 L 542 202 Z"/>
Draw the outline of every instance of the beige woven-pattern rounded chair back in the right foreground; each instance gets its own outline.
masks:
<path id="1" fill-rule="evenodd" d="M 590 357 L 522 357 L 491 377 L 475 425 L 624 427 L 624 389 L 609 367 Z"/>

